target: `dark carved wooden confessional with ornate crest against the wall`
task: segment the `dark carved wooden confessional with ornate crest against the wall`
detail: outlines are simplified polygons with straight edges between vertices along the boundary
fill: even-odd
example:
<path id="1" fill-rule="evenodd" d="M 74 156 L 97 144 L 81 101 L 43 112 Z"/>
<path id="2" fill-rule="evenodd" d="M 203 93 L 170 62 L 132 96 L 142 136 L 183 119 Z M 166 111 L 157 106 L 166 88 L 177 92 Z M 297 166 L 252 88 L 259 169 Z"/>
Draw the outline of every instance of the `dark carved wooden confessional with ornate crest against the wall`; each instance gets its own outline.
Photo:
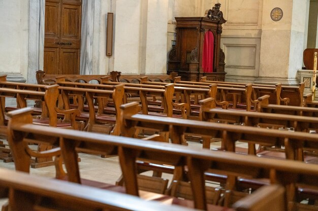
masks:
<path id="1" fill-rule="evenodd" d="M 226 22 L 220 4 L 208 10 L 205 17 L 176 17 L 176 45 L 168 58 L 168 74 L 177 72 L 182 80 L 198 81 L 207 76 L 208 80 L 224 81 L 226 72 L 225 55 L 220 49 L 222 24 Z M 205 33 L 213 33 L 213 72 L 204 72 L 202 67 Z"/>

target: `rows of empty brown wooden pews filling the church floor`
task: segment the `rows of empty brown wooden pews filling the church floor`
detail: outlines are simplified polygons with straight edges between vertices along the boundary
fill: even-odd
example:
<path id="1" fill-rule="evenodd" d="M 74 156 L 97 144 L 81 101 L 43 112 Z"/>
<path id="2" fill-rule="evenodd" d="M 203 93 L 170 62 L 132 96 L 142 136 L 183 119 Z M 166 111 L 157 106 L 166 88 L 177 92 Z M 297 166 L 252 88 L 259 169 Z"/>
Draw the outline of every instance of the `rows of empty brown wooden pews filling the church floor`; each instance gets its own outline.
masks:
<path id="1" fill-rule="evenodd" d="M 25 173 L 30 160 L 32 167 L 55 164 L 55 179 L 63 181 L 54 184 L 68 181 L 90 186 L 84 188 L 91 191 L 101 188 L 106 194 L 139 196 L 134 199 L 139 204 L 146 200 L 171 204 L 162 208 L 153 203 L 161 210 L 178 210 L 176 204 L 203 210 L 318 209 L 318 108 L 311 96 L 303 95 L 303 83 L 286 87 L 205 78 L 182 81 L 176 75 L 124 77 L 118 72 L 94 75 L 91 78 L 98 81 L 94 83 L 89 76 L 48 76 L 54 78 L 50 85 L 0 77 L 1 132 L 10 145 L 0 148 L 4 159 L 13 159 L 16 170 Z M 17 103 L 8 106 L 9 98 Z M 33 105 L 31 100 L 35 108 L 18 109 Z M 199 137 L 204 149 L 182 146 L 190 137 Z M 215 140 L 221 140 L 221 146 L 210 149 Z M 238 147 L 241 142 L 246 147 Z M 30 143 L 38 149 L 31 150 Z M 78 152 L 118 156 L 122 177 L 116 185 L 81 178 Z M 153 171 L 152 177 L 140 174 L 145 171 Z M 171 174 L 172 181 L 163 173 Z M 16 174 L 20 176 L 29 177 Z M 3 184 L 3 196 L 9 197 L 4 210 L 21 210 L 14 208 L 19 206 L 14 193 L 24 197 L 22 192 L 28 191 Z M 46 191 L 60 190 L 48 185 Z M 58 201 L 58 194 L 69 194 L 68 200 L 88 197 L 70 191 L 39 192 L 29 210 L 63 210 L 68 201 Z M 95 210 L 94 198 L 86 199 L 87 204 L 72 208 Z M 118 210 L 152 210 L 151 202 L 138 209 L 124 201 L 115 204 Z M 100 209 L 109 205 L 104 201 Z"/>

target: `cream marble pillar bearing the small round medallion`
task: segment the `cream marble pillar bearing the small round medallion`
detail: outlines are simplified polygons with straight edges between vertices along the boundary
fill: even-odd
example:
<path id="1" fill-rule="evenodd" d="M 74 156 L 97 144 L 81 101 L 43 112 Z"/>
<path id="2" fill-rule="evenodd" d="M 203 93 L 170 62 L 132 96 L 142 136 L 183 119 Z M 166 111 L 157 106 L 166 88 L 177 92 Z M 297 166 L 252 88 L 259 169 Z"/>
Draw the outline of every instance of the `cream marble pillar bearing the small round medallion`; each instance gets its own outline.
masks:
<path id="1" fill-rule="evenodd" d="M 273 21 L 270 13 L 280 8 L 283 16 Z M 263 1 L 260 73 L 256 83 L 297 85 L 302 67 L 306 25 L 306 1 Z"/>

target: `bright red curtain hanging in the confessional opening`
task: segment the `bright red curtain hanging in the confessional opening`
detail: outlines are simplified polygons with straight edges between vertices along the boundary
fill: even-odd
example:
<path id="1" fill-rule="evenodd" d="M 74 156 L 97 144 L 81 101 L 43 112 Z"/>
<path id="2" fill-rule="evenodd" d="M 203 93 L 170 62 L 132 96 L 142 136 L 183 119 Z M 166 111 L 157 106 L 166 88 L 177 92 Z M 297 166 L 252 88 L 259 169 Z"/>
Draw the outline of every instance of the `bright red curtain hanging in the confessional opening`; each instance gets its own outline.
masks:
<path id="1" fill-rule="evenodd" d="M 203 72 L 213 72 L 214 36 L 212 31 L 204 34 L 202 68 Z"/>

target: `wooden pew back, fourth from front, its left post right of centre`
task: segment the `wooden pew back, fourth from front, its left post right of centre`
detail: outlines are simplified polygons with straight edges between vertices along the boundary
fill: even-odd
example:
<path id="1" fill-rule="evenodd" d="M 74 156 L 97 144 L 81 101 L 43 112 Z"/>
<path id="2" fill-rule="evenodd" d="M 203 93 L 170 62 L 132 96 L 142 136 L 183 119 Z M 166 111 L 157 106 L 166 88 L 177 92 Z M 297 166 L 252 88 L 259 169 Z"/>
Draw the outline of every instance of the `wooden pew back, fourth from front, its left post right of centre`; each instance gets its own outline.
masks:
<path id="1" fill-rule="evenodd" d="M 281 114 L 279 112 L 275 112 L 276 111 L 275 108 L 295 107 L 295 106 L 273 105 L 271 109 L 271 112 L 273 113 L 250 112 L 250 111 L 241 112 L 241 111 L 234 111 L 234 110 L 211 108 L 212 101 L 213 101 L 212 98 L 208 98 L 208 99 L 204 99 L 200 101 L 200 104 L 201 104 L 200 120 L 224 122 L 224 123 L 230 122 L 230 123 L 235 123 L 240 125 L 243 124 L 248 126 L 261 126 L 263 128 L 271 128 L 271 129 L 288 130 L 289 128 L 292 128 L 293 131 L 306 132 L 306 133 L 309 133 L 311 130 L 318 130 L 317 117 L 301 116 L 301 115 L 293 115 L 293 114 Z M 304 108 L 304 107 L 299 107 L 299 108 Z M 264 109 L 264 108 L 261 108 L 261 109 Z M 280 109 L 281 111 L 285 111 L 283 108 L 280 108 Z M 277 109 L 277 110 L 280 110 L 280 109 Z M 318 114 L 318 109 L 316 109 L 315 113 Z M 203 147 L 210 148 L 209 139 L 204 140 L 203 143 L 205 143 Z M 254 147 L 254 144 L 252 143 L 249 146 L 249 150 L 251 150 L 249 152 L 250 154 L 257 154 L 257 152 L 255 151 L 256 149 Z M 240 151 L 240 153 L 243 153 L 243 152 L 244 152 L 244 149 Z M 270 152 L 263 151 L 261 154 L 258 154 L 258 155 L 265 156 L 266 154 L 270 154 Z M 277 156 L 280 156 L 280 155 L 277 154 Z M 312 157 L 310 157 L 310 159 L 312 159 Z"/>

